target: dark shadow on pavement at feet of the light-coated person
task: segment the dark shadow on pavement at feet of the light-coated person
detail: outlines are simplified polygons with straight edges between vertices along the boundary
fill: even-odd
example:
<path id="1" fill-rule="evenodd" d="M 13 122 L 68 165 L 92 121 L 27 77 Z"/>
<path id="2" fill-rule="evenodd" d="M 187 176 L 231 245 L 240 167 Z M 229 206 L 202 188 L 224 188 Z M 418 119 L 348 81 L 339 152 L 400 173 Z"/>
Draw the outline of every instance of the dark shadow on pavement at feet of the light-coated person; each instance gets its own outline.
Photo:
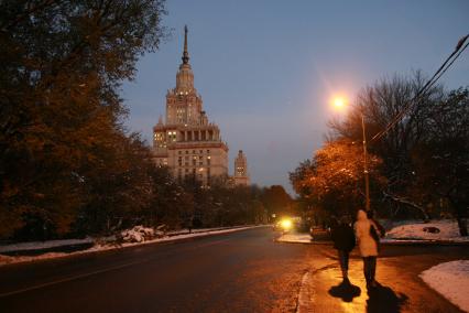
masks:
<path id="1" fill-rule="evenodd" d="M 396 294 L 391 288 L 377 283 L 368 290 L 367 312 L 401 312 L 408 296 L 404 293 Z"/>

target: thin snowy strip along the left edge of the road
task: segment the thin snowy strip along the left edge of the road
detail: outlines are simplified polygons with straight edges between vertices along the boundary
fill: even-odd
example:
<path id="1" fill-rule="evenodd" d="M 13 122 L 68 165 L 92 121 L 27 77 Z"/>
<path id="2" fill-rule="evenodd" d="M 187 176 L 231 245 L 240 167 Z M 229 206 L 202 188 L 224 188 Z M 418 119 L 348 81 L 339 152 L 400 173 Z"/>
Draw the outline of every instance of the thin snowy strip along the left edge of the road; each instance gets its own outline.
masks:
<path id="1" fill-rule="evenodd" d="M 225 229 L 216 228 L 217 230 L 210 230 L 209 228 L 207 228 L 207 229 L 205 229 L 205 231 L 200 231 L 199 229 L 197 229 L 196 233 L 190 233 L 190 234 L 187 233 L 187 234 L 182 234 L 182 235 L 166 236 L 166 237 L 155 238 L 155 239 L 152 239 L 152 240 L 146 240 L 146 241 L 141 241 L 141 242 L 124 242 L 122 245 L 116 245 L 116 244 L 112 244 L 112 242 L 103 242 L 103 244 L 98 242 L 89 249 L 69 252 L 69 253 L 67 253 L 67 252 L 48 252 L 48 253 L 43 253 L 43 255 L 39 255 L 39 256 L 18 256 L 18 257 L 10 257 L 10 256 L 0 255 L 0 266 L 10 265 L 10 263 L 31 262 L 31 261 L 44 260 L 44 259 L 62 258 L 62 257 L 67 257 L 67 256 L 72 256 L 72 255 L 84 255 L 84 253 L 91 253 L 91 252 L 98 252 L 98 251 L 113 250 L 113 249 L 119 249 L 119 248 L 123 248 L 123 247 L 131 247 L 131 246 L 150 245 L 150 244 L 155 244 L 155 242 L 176 241 L 176 240 L 195 238 L 195 237 L 204 237 L 204 236 L 210 236 L 210 235 L 217 235 L 217 234 L 227 234 L 227 233 L 240 231 L 240 230 L 257 228 L 257 227 L 265 227 L 265 225 L 234 227 L 234 228 L 225 228 Z M 54 241 L 64 242 L 66 240 L 54 240 Z M 75 240 L 75 241 L 79 241 L 79 240 Z M 48 242 L 48 241 L 36 242 L 37 246 L 35 246 L 35 248 L 33 248 L 34 242 L 29 242 L 29 244 L 31 245 L 31 249 L 33 250 L 33 249 L 41 249 L 42 245 L 46 245 L 46 242 Z M 25 245 L 25 244 L 19 244 L 19 245 Z M 70 244 L 70 245 L 73 245 L 73 244 Z M 10 246 L 13 246 L 13 245 L 4 246 L 3 248 L 10 247 Z M 55 247 L 57 247 L 57 246 L 64 246 L 64 245 L 63 244 L 56 245 Z M 13 248 L 11 248 L 9 251 L 13 251 Z"/>

